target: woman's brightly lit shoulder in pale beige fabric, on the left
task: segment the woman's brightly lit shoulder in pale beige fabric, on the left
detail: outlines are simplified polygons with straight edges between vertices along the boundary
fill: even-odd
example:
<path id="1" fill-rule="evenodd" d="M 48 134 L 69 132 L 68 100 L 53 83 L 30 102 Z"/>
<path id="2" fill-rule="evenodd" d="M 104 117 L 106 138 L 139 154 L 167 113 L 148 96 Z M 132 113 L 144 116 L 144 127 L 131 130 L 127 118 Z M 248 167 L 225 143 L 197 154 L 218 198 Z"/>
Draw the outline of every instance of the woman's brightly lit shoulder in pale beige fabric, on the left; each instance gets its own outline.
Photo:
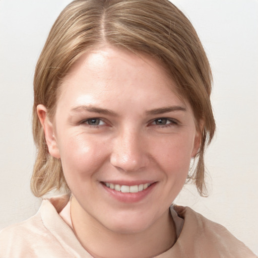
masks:
<path id="1" fill-rule="evenodd" d="M 53 222 L 58 219 L 55 208 L 49 201 L 43 200 L 37 214 L 0 231 L 0 257 L 43 257 L 40 255 L 46 254 L 49 254 L 48 257 L 56 257 L 51 253 L 53 249 L 65 253 L 45 226 L 42 215 L 51 217 Z"/>

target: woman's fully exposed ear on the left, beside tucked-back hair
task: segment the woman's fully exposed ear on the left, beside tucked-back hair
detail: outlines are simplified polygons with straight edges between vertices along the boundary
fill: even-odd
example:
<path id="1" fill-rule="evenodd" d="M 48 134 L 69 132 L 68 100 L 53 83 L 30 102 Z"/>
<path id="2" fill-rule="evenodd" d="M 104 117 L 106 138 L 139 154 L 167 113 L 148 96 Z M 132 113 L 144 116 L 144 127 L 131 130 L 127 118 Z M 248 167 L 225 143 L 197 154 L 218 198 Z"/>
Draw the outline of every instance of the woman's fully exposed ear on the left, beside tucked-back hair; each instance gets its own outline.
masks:
<path id="1" fill-rule="evenodd" d="M 51 156 L 59 159 L 60 153 L 59 153 L 59 149 L 58 149 L 58 145 L 57 145 L 57 140 L 54 135 L 53 124 L 49 121 L 49 119 L 47 117 L 46 107 L 41 104 L 38 105 L 37 106 L 37 114 L 38 114 L 39 120 L 41 122 L 41 125 L 44 129 L 48 152 L 50 153 Z"/>

